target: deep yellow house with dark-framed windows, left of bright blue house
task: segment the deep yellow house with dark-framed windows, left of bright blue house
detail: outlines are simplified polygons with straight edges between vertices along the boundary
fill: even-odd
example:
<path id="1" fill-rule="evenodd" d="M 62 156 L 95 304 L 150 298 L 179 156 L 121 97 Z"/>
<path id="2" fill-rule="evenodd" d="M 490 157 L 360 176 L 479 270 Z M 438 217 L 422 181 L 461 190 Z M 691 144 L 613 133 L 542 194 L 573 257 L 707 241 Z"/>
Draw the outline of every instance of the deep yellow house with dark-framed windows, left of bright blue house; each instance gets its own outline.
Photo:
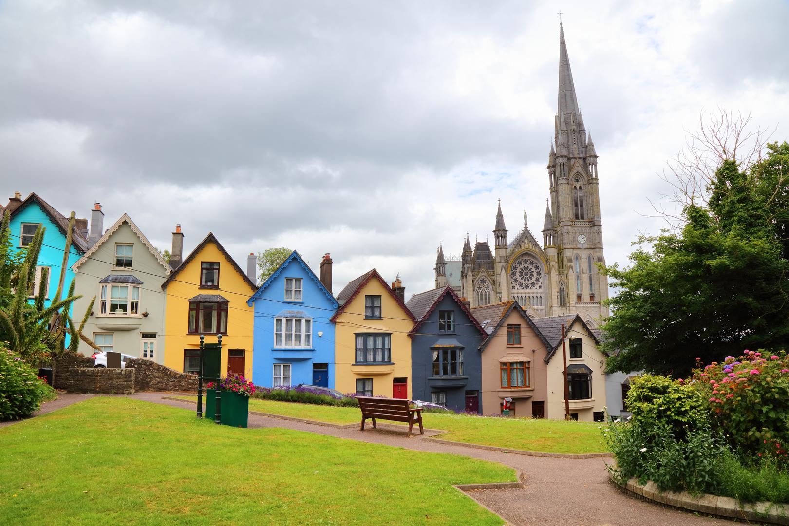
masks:
<path id="1" fill-rule="evenodd" d="M 252 379 L 254 311 L 246 300 L 255 283 L 208 233 L 189 256 L 181 259 L 183 234 L 173 233 L 176 267 L 162 284 L 165 293 L 164 365 L 177 371 L 199 370 L 200 336 L 216 343 L 222 334 L 222 374 Z"/>

